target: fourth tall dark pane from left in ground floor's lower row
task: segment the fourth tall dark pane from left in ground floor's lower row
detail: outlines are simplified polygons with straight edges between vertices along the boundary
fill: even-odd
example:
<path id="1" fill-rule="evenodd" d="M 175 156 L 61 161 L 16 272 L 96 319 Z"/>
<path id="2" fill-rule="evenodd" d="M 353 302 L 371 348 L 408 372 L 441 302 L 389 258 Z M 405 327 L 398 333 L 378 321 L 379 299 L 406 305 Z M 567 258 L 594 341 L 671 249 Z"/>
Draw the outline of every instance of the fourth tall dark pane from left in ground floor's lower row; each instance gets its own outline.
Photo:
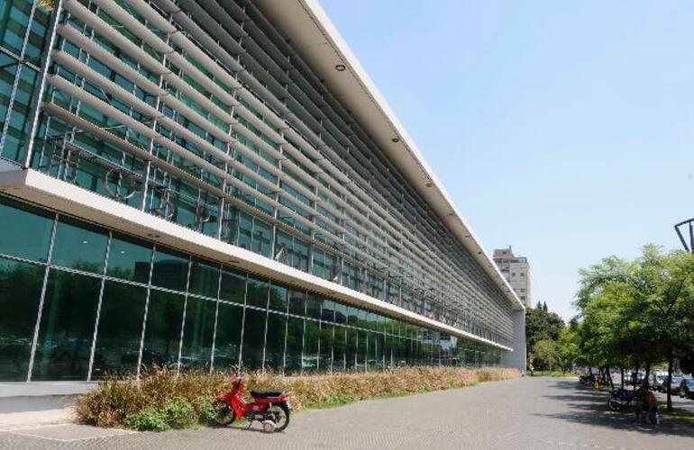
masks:
<path id="1" fill-rule="evenodd" d="M 143 369 L 178 364 L 183 305 L 183 295 L 151 290 L 142 347 Z"/>

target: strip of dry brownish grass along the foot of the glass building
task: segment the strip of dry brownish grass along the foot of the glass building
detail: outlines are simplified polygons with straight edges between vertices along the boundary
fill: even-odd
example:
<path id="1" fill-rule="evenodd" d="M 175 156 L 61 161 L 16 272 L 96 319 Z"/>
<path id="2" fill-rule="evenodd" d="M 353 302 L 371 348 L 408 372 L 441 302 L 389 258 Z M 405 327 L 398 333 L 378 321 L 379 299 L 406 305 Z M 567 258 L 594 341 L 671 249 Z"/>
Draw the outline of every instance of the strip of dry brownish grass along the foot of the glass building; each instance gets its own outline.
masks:
<path id="1" fill-rule="evenodd" d="M 295 410 L 321 408 L 352 401 L 461 388 L 520 376 L 515 369 L 402 367 L 382 372 L 282 377 L 246 374 L 246 391 L 280 388 L 291 392 Z M 81 423 L 125 428 L 125 418 L 148 407 L 161 408 L 174 398 L 190 401 L 201 416 L 205 402 L 231 388 L 228 374 L 183 373 L 160 369 L 134 377 L 106 379 L 78 400 Z"/>

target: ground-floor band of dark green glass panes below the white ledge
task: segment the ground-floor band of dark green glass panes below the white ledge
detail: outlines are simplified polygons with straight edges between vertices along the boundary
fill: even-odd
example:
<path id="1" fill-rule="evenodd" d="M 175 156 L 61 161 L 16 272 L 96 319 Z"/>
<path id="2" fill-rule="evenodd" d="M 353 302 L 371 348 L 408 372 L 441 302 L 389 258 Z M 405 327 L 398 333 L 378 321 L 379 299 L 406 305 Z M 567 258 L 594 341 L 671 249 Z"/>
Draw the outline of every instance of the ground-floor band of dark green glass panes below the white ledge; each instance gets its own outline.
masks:
<path id="1" fill-rule="evenodd" d="M 48 233 L 25 253 L 0 250 L 0 382 L 98 380 L 152 365 L 307 374 L 499 364 L 493 347 L 4 196 L 0 217 Z M 5 230 L 14 232 L 4 221 Z M 85 241 L 89 251 L 75 256 Z"/>

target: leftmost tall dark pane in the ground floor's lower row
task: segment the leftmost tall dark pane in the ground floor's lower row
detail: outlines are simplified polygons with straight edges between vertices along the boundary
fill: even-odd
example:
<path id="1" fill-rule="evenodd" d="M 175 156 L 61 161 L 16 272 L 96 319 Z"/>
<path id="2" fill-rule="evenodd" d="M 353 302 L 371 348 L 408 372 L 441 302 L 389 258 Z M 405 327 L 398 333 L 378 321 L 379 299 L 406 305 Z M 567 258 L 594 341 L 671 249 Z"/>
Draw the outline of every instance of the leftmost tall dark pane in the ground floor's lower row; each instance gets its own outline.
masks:
<path id="1" fill-rule="evenodd" d="M 0 258 L 2 382 L 26 381 L 45 270 L 44 266 Z"/>

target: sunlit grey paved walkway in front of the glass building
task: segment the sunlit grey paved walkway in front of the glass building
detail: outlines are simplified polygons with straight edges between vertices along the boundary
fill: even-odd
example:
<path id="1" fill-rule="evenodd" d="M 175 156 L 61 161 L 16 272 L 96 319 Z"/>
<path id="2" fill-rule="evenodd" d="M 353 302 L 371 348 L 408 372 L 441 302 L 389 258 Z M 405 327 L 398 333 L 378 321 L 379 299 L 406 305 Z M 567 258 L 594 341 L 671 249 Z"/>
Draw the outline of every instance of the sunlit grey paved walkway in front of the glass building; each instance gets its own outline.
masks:
<path id="1" fill-rule="evenodd" d="M 2 449 L 571 449 L 694 448 L 694 428 L 636 425 L 606 392 L 574 379 L 522 378 L 296 414 L 284 433 L 199 428 L 131 433 L 77 425 L 0 431 Z"/>

